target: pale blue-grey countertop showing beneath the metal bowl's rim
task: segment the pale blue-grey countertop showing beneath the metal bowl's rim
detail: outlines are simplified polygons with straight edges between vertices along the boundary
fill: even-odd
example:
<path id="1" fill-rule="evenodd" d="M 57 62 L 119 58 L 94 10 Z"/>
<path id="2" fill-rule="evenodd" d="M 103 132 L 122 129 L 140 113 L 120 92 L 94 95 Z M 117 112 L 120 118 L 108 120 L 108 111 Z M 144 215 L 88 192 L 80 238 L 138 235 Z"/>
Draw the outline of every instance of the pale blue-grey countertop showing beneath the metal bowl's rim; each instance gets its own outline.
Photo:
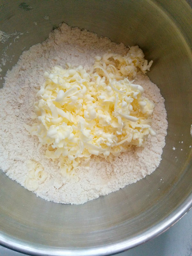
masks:
<path id="1" fill-rule="evenodd" d="M 1 256 L 24 256 L 0 246 Z M 116 256 L 192 256 L 192 210 L 160 236 Z"/>

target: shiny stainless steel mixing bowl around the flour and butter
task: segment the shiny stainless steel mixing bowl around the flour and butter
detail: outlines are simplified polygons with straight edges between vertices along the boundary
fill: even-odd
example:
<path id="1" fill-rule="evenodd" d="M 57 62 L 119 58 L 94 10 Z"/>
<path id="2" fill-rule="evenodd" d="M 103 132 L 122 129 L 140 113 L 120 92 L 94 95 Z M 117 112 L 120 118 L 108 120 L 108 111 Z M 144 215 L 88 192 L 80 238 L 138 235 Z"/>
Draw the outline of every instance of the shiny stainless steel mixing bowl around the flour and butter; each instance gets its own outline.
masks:
<path id="1" fill-rule="evenodd" d="M 0 172 L 0 243 L 34 255 L 107 255 L 157 236 L 192 206 L 192 11 L 183 0 L 4 1 L 0 30 L 23 35 L 0 43 L 9 60 L 2 76 L 62 21 L 139 44 L 154 60 L 148 75 L 169 123 L 162 161 L 145 179 L 83 205 L 47 202 Z"/>

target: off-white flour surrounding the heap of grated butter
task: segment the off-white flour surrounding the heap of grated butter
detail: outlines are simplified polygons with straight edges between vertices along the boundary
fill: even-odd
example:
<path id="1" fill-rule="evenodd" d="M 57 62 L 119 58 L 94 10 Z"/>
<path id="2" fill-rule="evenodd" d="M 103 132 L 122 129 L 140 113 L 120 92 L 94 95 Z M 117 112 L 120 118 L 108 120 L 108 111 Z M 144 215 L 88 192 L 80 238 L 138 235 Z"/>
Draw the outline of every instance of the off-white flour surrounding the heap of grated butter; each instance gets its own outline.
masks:
<path id="1" fill-rule="evenodd" d="M 135 83 L 142 85 L 145 96 L 156 104 L 152 128 L 157 135 L 149 135 L 144 148 L 132 148 L 111 163 L 94 156 L 90 170 L 86 170 L 82 162 L 76 176 L 67 180 L 61 177 L 57 161 L 45 158 L 44 147 L 38 138 L 31 137 L 23 126 L 24 123 L 31 124 L 35 95 L 44 83 L 46 69 L 55 65 L 64 67 L 69 62 L 88 70 L 94 57 L 109 49 L 122 55 L 128 51 L 124 44 L 115 44 L 108 38 L 98 38 L 86 30 L 62 24 L 45 42 L 23 52 L 17 65 L 7 72 L 4 88 L 0 90 L 0 167 L 12 180 L 25 186 L 28 160 L 40 162 L 49 176 L 34 191 L 37 196 L 58 203 L 83 204 L 144 178 L 161 161 L 167 134 L 164 99 L 157 86 L 141 73 Z"/>

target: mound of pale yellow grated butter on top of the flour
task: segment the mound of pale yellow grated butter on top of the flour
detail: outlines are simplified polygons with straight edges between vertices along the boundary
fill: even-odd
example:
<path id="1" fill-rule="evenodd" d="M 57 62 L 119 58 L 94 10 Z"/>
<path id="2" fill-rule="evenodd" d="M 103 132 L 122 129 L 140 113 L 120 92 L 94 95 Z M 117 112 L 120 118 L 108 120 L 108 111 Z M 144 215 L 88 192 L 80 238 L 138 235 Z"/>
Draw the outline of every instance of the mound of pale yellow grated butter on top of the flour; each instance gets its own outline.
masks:
<path id="1" fill-rule="evenodd" d="M 63 174 L 72 173 L 81 157 L 107 158 L 140 147 L 148 134 L 156 135 L 150 118 L 155 105 L 131 79 L 151 64 L 134 46 L 126 56 L 96 56 L 91 72 L 69 63 L 55 66 L 44 73 L 37 93 L 36 123 L 25 127 L 47 145 L 46 157 L 59 159 Z"/>

